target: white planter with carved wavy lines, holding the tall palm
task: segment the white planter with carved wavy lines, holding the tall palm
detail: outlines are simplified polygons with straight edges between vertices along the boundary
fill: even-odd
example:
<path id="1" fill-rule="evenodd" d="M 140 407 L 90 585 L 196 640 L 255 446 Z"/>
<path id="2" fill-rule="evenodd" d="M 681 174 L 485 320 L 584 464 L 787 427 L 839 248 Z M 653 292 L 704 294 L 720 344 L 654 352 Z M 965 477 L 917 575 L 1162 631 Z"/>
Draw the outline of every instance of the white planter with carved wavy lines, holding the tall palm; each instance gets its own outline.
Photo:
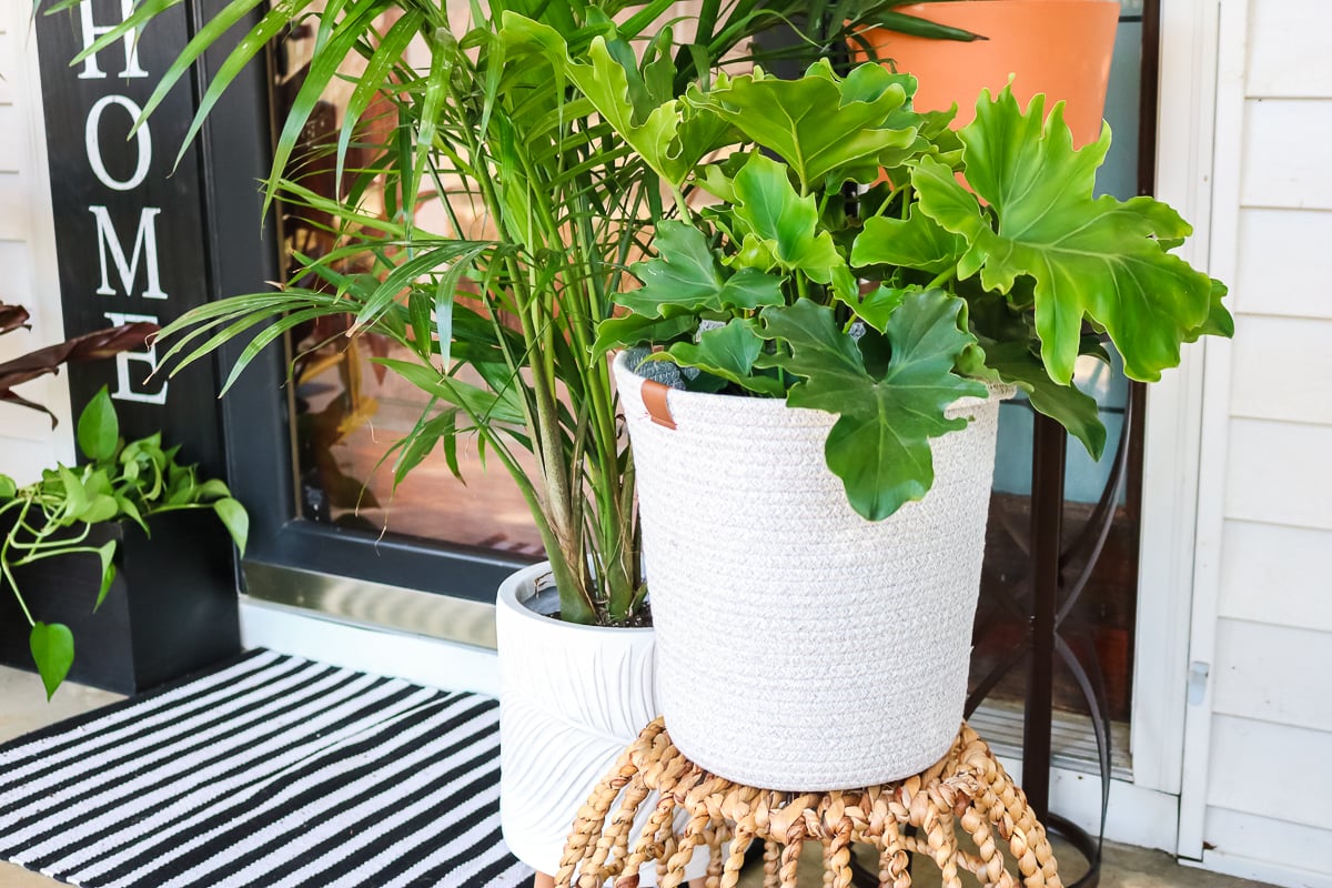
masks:
<path id="1" fill-rule="evenodd" d="M 523 602 L 547 564 L 511 575 L 496 599 L 500 643 L 500 821 L 513 853 L 559 868 L 578 808 L 643 727 L 661 715 L 650 628 L 599 628 L 534 614 Z M 654 808 L 639 807 L 634 835 Z M 695 852 L 690 879 L 707 869 Z M 655 884 L 655 865 L 641 872 Z"/>

